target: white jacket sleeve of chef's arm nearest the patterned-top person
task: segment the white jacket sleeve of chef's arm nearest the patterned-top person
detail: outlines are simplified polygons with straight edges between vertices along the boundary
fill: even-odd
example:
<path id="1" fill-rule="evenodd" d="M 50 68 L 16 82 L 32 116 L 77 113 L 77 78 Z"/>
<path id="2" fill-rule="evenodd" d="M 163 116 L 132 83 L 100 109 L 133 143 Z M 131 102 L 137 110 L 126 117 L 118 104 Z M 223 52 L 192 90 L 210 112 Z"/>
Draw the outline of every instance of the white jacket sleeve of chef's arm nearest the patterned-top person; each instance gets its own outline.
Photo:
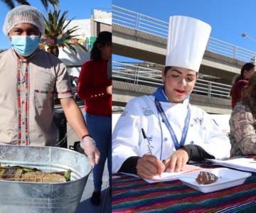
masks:
<path id="1" fill-rule="evenodd" d="M 218 124 L 203 111 L 205 124 L 205 138 L 200 145 L 208 154 L 213 155 L 215 159 L 222 160 L 230 157 L 230 140 L 228 136 L 218 127 Z"/>

